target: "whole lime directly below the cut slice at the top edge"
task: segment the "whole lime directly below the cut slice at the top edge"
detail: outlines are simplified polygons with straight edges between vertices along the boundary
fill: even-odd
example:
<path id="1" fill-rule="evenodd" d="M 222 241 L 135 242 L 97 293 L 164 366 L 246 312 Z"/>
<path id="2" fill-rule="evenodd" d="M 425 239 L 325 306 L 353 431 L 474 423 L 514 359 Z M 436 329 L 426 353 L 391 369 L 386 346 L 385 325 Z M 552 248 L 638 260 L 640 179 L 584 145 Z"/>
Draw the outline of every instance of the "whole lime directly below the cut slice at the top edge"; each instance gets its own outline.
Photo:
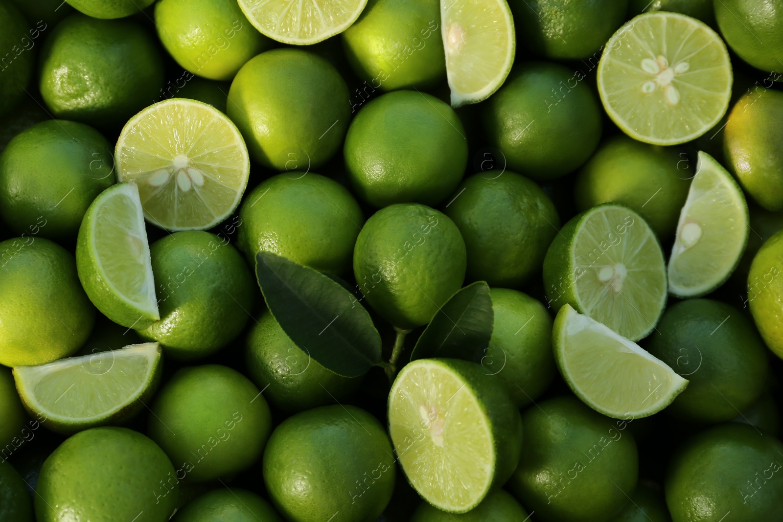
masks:
<path id="1" fill-rule="evenodd" d="M 226 113 L 255 161 L 277 171 L 307 171 L 342 145 L 350 119 L 348 86 L 321 56 L 272 49 L 236 73 Z"/>

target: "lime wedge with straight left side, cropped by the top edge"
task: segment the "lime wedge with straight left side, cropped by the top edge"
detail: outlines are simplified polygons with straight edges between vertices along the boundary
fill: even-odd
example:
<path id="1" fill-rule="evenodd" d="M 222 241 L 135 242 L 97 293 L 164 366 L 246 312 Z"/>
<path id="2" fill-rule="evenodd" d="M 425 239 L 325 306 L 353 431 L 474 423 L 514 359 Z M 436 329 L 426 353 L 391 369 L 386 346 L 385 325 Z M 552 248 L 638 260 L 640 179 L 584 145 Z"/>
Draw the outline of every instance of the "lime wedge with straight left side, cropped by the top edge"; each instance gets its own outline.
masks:
<path id="1" fill-rule="evenodd" d="M 442 0 L 441 36 L 451 105 L 489 98 L 514 63 L 514 20 L 506 0 Z"/>

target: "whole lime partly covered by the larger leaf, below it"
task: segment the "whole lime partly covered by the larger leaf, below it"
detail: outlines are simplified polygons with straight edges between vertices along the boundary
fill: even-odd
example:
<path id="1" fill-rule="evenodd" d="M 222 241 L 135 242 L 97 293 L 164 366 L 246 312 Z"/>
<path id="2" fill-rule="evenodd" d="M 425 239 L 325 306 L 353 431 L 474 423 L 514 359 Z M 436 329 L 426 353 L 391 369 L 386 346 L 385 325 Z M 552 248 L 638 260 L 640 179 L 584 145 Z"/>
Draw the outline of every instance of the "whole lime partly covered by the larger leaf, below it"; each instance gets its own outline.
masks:
<path id="1" fill-rule="evenodd" d="M 265 310 L 247 334 L 247 373 L 277 409 L 301 412 L 342 401 L 356 391 L 360 377 L 330 372 L 302 350 Z"/>

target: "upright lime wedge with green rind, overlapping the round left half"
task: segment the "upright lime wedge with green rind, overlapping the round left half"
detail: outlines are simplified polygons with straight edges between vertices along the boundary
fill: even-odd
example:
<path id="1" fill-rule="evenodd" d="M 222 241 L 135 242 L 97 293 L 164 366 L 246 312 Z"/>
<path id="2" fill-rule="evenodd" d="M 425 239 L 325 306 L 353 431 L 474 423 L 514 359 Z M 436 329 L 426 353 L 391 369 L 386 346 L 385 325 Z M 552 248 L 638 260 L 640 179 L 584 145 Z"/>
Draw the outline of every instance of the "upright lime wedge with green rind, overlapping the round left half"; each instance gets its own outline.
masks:
<path id="1" fill-rule="evenodd" d="M 81 221 L 76 268 L 87 297 L 128 328 L 161 319 L 139 189 L 118 183 L 100 193 Z"/>

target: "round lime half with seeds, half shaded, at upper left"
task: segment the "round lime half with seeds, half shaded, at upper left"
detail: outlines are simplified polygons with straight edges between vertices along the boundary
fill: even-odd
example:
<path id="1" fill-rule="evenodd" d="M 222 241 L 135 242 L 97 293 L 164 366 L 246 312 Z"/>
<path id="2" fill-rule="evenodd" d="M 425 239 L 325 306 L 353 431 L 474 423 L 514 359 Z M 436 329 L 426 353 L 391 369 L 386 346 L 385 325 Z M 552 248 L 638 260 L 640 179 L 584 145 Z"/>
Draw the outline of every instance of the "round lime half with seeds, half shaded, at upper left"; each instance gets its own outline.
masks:
<path id="1" fill-rule="evenodd" d="M 125 124 L 117 179 L 139 185 L 144 217 L 161 229 L 211 229 L 240 203 L 250 160 L 240 131 L 207 103 L 172 98 Z"/>

